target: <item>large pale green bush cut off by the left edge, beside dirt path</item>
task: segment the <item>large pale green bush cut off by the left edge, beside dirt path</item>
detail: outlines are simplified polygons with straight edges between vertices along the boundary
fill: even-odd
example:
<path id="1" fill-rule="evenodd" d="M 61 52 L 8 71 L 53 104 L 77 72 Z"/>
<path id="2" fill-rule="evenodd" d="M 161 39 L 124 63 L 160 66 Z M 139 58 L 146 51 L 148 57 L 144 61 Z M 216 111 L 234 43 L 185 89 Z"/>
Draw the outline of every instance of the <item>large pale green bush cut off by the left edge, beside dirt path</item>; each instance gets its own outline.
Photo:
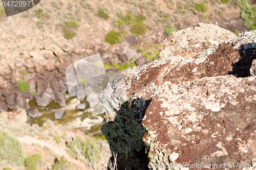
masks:
<path id="1" fill-rule="evenodd" d="M 0 161 L 23 166 L 25 157 L 22 143 L 15 136 L 0 130 Z"/>

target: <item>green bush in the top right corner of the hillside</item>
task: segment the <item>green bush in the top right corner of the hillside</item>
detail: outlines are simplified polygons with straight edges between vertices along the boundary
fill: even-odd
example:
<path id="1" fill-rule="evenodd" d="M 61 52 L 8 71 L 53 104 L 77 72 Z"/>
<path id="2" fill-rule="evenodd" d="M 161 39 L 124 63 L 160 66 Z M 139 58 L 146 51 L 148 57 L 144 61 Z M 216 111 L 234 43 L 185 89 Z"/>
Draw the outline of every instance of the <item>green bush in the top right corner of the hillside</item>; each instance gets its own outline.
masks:
<path id="1" fill-rule="evenodd" d="M 256 30 L 256 4 L 249 5 L 248 0 L 238 0 L 241 8 L 240 16 L 248 29 Z"/>

